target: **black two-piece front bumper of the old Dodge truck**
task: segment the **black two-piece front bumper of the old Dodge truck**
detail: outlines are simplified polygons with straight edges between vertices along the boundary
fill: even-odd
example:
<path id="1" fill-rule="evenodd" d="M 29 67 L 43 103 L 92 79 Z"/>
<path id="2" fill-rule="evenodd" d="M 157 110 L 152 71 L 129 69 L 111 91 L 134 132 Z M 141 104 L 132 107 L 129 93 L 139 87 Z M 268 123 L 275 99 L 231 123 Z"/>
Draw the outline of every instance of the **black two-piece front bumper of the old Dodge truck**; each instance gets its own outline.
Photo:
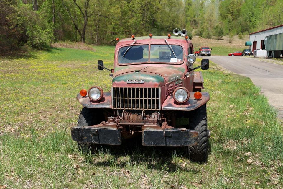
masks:
<path id="1" fill-rule="evenodd" d="M 142 126 L 143 146 L 194 146 L 198 141 L 198 132 L 185 128 L 165 128 L 154 124 Z M 99 124 L 88 127 L 71 128 L 74 141 L 93 144 L 121 145 L 121 130 L 116 125 Z"/>

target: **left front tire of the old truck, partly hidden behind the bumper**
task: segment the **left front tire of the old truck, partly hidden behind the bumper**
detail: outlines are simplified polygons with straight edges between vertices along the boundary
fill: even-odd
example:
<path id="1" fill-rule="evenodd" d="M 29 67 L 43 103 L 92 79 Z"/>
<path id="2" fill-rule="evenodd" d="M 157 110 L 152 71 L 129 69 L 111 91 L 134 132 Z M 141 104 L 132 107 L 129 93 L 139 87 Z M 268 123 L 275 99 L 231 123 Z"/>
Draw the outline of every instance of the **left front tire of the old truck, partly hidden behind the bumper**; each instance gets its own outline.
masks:
<path id="1" fill-rule="evenodd" d="M 77 127 L 87 127 L 87 126 L 99 124 L 101 123 L 101 121 L 98 118 L 99 118 L 99 115 L 97 114 L 95 109 L 83 107 L 83 109 L 80 111 Z M 94 151 L 96 150 L 97 146 L 98 146 L 97 144 L 78 142 L 79 150 Z"/>

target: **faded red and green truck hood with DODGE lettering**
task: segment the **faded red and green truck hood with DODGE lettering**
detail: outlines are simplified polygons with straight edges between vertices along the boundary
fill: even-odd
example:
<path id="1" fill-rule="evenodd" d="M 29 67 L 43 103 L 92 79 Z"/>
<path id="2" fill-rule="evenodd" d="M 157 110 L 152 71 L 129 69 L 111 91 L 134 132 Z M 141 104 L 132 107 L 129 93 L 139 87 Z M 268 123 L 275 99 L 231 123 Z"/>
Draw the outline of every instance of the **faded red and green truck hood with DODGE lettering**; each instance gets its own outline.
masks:
<path id="1" fill-rule="evenodd" d="M 114 73 L 112 82 L 113 87 L 162 87 L 182 79 L 184 73 L 184 68 L 174 66 L 125 66 Z"/>

